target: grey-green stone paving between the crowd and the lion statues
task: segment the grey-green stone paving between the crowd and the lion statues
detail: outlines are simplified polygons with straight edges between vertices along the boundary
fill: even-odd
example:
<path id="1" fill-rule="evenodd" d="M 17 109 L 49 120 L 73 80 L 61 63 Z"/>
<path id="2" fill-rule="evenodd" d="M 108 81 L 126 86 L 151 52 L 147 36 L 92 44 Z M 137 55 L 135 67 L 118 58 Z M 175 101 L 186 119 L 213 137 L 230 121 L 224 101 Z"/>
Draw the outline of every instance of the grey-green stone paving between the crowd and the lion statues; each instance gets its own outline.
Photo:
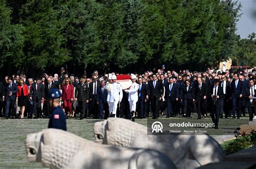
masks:
<path id="1" fill-rule="evenodd" d="M 248 117 L 243 117 L 247 119 Z M 159 119 L 166 119 L 160 117 Z M 170 120 L 186 120 L 181 117 L 170 118 Z M 4 120 L 0 118 L 0 168 L 42 168 L 40 163 L 29 163 L 26 158 L 25 151 L 25 138 L 26 134 L 38 132 L 48 127 L 49 119 L 8 119 Z M 198 121 L 196 117 L 193 119 Z M 203 119 L 204 120 L 204 119 Z M 208 118 L 210 120 L 210 118 Z M 67 127 L 68 131 L 75 133 L 80 137 L 94 140 L 93 125 L 97 119 L 68 119 Z M 136 119 L 137 123 L 146 125 L 146 119 Z M 219 130 L 225 131 L 224 136 L 213 136 L 218 141 L 229 139 L 233 137 L 234 129 L 239 126 L 239 119 L 220 119 Z M 214 129 L 212 129 L 214 130 Z"/>

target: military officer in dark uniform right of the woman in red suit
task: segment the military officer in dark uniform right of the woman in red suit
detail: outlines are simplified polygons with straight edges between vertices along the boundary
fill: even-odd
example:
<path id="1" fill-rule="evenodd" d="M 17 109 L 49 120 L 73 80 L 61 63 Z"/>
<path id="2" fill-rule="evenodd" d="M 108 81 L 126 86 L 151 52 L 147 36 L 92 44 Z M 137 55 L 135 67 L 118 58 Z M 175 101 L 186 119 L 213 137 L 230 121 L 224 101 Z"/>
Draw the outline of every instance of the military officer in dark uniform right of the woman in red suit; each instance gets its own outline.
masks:
<path id="1" fill-rule="evenodd" d="M 87 87 L 83 77 L 79 81 L 75 90 L 75 100 L 78 102 L 80 120 L 82 120 L 86 118 L 87 103 L 89 102 L 89 87 Z"/>

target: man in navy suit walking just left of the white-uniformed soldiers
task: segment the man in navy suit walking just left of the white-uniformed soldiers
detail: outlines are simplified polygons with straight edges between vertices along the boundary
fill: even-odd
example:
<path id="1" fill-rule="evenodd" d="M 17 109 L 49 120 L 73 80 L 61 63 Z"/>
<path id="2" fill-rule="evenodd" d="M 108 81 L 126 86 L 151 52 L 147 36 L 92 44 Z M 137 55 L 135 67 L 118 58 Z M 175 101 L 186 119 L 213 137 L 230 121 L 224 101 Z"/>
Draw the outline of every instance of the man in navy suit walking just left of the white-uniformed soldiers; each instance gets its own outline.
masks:
<path id="1" fill-rule="evenodd" d="M 97 87 L 97 104 L 99 105 L 99 118 L 107 119 L 109 113 L 109 106 L 106 102 L 107 99 L 107 90 L 105 89 L 105 81 L 100 82 L 100 86 Z M 105 112 L 105 113 L 104 113 Z"/>

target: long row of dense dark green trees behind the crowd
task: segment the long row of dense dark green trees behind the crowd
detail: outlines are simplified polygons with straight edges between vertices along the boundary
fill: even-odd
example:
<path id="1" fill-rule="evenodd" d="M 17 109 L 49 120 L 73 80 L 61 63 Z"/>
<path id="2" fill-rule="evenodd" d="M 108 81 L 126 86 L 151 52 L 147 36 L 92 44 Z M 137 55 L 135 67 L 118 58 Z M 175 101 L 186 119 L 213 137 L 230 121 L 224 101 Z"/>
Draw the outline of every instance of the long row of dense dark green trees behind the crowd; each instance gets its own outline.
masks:
<path id="1" fill-rule="evenodd" d="M 204 69 L 235 57 L 240 4 L 215 0 L 2 0 L 0 69 L 31 76 Z M 52 72 L 51 72 L 52 73 Z"/>

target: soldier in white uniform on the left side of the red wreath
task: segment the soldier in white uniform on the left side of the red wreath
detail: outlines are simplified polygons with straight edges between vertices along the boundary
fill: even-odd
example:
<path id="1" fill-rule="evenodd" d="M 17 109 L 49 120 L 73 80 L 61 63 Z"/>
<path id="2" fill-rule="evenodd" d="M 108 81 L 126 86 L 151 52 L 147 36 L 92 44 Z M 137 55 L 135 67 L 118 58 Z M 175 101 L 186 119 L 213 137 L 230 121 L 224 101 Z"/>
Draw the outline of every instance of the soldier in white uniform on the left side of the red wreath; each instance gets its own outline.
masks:
<path id="1" fill-rule="evenodd" d="M 116 118 L 118 102 L 121 102 L 123 98 L 122 87 L 117 83 L 117 76 L 112 75 L 112 84 L 107 84 L 105 89 L 107 90 L 107 103 L 109 103 L 110 117 Z"/>

